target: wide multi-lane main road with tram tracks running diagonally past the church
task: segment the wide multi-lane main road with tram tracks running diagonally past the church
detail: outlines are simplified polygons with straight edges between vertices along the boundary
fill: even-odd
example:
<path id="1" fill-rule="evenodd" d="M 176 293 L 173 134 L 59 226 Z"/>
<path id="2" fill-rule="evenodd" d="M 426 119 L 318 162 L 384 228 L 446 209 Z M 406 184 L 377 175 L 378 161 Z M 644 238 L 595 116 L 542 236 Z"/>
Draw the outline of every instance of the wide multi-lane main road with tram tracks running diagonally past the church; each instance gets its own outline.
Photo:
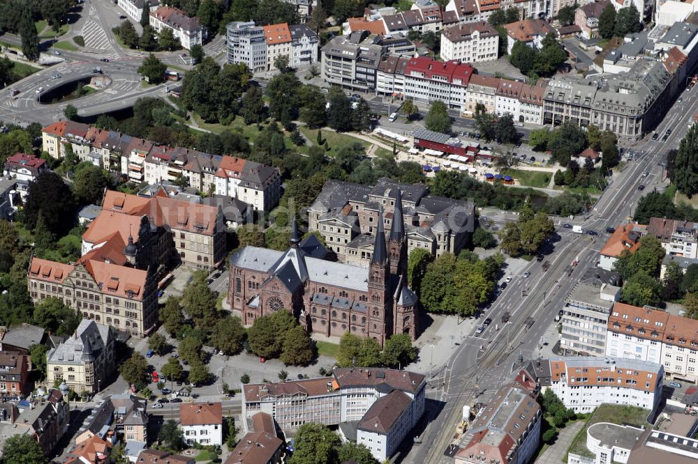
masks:
<path id="1" fill-rule="evenodd" d="M 577 223 L 598 232 L 604 231 L 607 226 L 615 227 L 632 215 L 642 194 L 664 187 L 666 183 L 662 178 L 660 162 L 664 162 L 670 148 L 678 146 L 696 111 L 698 92 L 684 93 L 683 102 L 676 103 L 658 127 L 661 134 L 667 128 L 673 131 L 667 141 L 653 141 L 646 137 L 628 146 L 641 155 L 629 162 L 622 173 L 614 176 L 588 218 Z M 648 176 L 642 176 L 644 171 L 648 172 Z M 641 184 L 646 185 L 644 192 L 637 190 Z M 557 229 L 560 240 L 551 245 L 553 249 L 548 251 L 547 257 L 547 261 L 551 261 L 551 268 L 542 272 L 541 263 L 530 263 L 527 268 L 531 272 L 530 278 L 526 281 L 514 279 L 488 310 L 487 316 L 493 318 L 494 323 L 479 337 L 473 334 L 463 341 L 447 369 L 431 380 L 431 385 L 436 387 L 429 394 L 434 399 L 431 404 L 443 409 L 431 419 L 421 438 L 422 442 L 433 445 L 415 447 L 406 456 L 405 462 L 432 464 L 451 461 L 451 458 L 444 456 L 444 452 L 451 442 L 461 407 L 470 404 L 476 398 L 476 392 L 484 390 L 484 396 L 479 401 L 487 399 L 510 374 L 519 355 L 526 359 L 535 353 L 540 337 L 563 306 L 567 293 L 579 277 L 595 265 L 597 253 L 607 235 L 593 237 L 574 234 L 570 229 Z M 575 259 L 579 265 L 572 268 L 570 264 Z M 521 296 L 522 289 L 528 296 Z M 513 323 L 507 327 L 502 327 L 500 323 L 500 330 L 496 330 L 495 323 L 500 322 L 505 311 L 510 312 Z M 526 330 L 522 324 L 528 317 L 535 319 L 530 330 Z M 484 349 L 481 350 L 481 347 Z"/>

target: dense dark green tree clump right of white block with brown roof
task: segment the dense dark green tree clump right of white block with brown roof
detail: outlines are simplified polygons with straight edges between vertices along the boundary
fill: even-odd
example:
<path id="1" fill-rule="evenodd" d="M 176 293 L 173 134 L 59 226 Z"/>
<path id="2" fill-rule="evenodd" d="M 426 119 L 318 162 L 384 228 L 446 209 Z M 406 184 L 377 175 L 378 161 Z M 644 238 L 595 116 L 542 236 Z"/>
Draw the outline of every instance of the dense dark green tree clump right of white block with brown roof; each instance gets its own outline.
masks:
<path id="1" fill-rule="evenodd" d="M 509 56 L 512 65 L 533 79 L 554 75 L 567 61 L 567 52 L 560 46 L 554 32 L 549 32 L 539 50 L 517 40 Z"/>

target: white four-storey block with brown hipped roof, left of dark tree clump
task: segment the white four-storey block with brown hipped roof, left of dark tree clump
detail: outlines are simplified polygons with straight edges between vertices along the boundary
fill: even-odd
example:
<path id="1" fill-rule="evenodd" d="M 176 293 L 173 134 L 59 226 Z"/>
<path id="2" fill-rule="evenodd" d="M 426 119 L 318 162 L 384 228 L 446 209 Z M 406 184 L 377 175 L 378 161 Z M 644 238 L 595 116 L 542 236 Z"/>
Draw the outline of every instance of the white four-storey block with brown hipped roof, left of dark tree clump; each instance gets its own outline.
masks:
<path id="1" fill-rule="evenodd" d="M 441 31 L 440 54 L 444 61 L 495 61 L 498 49 L 499 33 L 487 22 L 457 24 Z"/>

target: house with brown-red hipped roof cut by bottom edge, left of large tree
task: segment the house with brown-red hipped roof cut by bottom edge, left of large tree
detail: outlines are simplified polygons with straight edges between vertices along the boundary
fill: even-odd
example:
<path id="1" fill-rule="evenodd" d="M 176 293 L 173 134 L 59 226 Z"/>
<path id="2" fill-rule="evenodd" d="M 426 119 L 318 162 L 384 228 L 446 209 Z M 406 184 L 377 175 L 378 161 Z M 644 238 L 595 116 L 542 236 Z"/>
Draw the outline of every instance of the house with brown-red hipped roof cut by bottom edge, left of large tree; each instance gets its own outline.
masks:
<path id="1" fill-rule="evenodd" d="M 274 418 L 266 412 L 251 417 L 253 426 L 225 460 L 225 464 L 279 464 L 283 440 L 276 436 Z"/>

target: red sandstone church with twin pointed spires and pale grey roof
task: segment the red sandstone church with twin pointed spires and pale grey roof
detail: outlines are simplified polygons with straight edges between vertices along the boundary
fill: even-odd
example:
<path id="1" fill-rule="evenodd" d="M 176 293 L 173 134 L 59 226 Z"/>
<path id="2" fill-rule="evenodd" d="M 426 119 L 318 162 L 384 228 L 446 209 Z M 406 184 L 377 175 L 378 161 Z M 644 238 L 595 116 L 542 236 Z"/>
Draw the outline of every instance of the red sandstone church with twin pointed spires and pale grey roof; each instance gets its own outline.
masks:
<path id="1" fill-rule="evenodd" d="M 398 192 L 400 196 L 400 192 Z M 381 210 L 368 267 L 327 261 L 315 235 L 300 240 L 295 218 L 285 252 L 244 247 L 230 258 L 228 301 L 250 325 L 260 316 L 290 310 L 309 332 L 350 332 L 381 345 L 392 334 L 419 334 L 417 295 L 407 286 L 407 245 L 398 199 L 389 234 Z"/>

